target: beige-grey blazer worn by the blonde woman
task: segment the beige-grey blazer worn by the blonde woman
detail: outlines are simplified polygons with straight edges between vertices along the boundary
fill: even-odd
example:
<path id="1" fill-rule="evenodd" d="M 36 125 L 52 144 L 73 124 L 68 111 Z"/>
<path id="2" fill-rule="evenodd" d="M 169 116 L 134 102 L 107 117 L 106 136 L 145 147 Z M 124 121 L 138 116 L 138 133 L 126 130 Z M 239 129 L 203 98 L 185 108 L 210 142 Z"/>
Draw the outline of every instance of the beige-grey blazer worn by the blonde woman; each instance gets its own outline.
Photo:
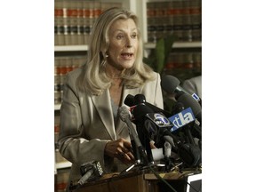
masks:
<path id="1" fill-rule="evenodd" d="M 128 167 L 116 158 L 104 156 L 104 148 L 109 140 L 130 140 L 128 128 L 120 119 L 115 126 L 109 90 L 100 96 L 78 91 L 76 78 L 81 71 L 81 68 L 77 68 L 68 73 L 60 108 L 58 144 L 60 154 L 72 163 L 69 182 L 79 180 L 81 164 L 92 160 L 100 161 L 105 172 L 120 172 Z M 138 93 L 144 94 L 147 102 L 164 108 L 159 74 L 156 74 L 156 80 L 139 88 L 128 89 L 124 86 L 122 103 L 128 94 Z"/>

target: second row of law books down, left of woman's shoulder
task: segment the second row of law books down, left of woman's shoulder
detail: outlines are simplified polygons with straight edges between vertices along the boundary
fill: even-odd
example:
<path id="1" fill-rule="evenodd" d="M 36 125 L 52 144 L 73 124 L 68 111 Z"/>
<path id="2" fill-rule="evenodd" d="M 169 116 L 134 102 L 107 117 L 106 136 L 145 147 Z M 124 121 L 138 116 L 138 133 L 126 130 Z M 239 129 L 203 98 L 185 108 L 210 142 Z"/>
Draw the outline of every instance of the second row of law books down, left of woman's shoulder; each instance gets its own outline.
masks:
<path id="1" fill-rule="evenodd" d="M 54 58 L 54 104 L 62 100 L 63 84 L 65 76 L 69 71 L 81 67 L 86 56 L 67 56 Z"/>

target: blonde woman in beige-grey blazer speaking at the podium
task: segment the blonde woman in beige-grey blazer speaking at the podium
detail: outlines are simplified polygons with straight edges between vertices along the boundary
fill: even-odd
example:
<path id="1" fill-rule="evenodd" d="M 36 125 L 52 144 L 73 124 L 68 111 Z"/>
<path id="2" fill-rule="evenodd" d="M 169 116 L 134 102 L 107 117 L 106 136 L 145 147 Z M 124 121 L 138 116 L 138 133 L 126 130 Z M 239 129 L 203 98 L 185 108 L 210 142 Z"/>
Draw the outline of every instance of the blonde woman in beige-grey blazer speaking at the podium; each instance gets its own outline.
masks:
<path id="1" fill-rule="evenodd" d="M 138 18 L 111 8 L 92 28 L 83 68 L 68 73 L 60 108 L 60 154 L 72 163 L 69 182 L 79 180 L 81 164 L 100 161 L 105 172 L 132 164 L 126 124 L 117 115 L 128 94 L 144 94 L 163 108 L 160 76 L 142 63 Z"/>

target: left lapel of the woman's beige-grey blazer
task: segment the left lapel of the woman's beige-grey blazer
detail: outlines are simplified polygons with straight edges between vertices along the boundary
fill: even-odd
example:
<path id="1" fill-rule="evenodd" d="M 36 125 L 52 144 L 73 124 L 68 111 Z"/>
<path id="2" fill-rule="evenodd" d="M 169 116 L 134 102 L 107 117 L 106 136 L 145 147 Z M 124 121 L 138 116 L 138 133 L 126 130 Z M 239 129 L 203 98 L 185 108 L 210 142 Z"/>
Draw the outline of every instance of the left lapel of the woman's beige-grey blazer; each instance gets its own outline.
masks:
<path id="1" fill-rule="evenodd" d="M 92 102 L 112 140 L 116 140 L 115 124 L 108 90 L 100 96 L 92 96 Z"/>

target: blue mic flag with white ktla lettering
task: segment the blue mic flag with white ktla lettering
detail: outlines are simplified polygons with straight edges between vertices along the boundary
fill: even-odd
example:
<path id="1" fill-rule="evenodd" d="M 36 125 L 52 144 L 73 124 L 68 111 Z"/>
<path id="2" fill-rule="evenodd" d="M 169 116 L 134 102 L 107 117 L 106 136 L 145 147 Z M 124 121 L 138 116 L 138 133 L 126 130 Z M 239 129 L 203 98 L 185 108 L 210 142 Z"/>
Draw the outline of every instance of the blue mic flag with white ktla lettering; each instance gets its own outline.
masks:
<path id="1" fill-rule="evenodd" d="M 195 116 L 194 116 L 191 108 L 186 108 L 186 109 L 182 110 L 180 113 L 169 117 L 168 119 L 174 125 L 171 129 L 171 132 L 174 132 L 177 129 L 179 129 L 180 127 L 182 127 L 186 124 L 189 124 L 190 122 L 195 121 Z"/>

